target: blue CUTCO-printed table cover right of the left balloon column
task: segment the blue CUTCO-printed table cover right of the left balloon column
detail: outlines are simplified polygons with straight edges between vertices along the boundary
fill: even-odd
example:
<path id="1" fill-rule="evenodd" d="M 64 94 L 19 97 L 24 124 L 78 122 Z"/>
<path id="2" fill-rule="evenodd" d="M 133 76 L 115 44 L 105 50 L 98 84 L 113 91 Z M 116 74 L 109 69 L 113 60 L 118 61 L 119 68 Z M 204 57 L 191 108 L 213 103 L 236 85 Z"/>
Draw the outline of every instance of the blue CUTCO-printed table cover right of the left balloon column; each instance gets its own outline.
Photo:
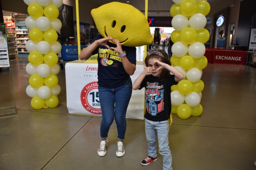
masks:
<path id="1" fill-rule="evenodd" d="M 78 60 L 78 46 L 77 45 L 62 45 L 61 56 L 63 60 Z M 87 45 L 81 45 L 81 51 Z"/>

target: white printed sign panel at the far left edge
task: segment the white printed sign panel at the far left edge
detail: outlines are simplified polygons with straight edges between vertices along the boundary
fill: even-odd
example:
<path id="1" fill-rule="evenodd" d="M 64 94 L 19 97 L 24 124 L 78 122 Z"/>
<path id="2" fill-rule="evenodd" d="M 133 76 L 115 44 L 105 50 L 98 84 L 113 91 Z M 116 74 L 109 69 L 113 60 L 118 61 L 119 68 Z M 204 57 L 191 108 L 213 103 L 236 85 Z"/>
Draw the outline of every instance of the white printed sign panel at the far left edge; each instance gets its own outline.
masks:
<path id="1" fill-rule="evenodd" d="M 0 67 L 9 67 L 7 34 L 4 23 L 0 23 Z"/>

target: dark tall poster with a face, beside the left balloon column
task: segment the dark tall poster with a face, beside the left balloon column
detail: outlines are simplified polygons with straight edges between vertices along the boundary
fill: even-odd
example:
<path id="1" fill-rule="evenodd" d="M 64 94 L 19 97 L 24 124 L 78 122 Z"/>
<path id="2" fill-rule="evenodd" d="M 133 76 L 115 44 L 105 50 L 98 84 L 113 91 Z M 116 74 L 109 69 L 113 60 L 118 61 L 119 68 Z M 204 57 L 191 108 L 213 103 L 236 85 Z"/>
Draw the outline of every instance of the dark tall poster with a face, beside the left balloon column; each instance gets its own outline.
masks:
<path id="1" fill-rule="evenodd" d="M 73 22 L 73 7 L 62 4 L 59 9 L 59 16 L 62 23 L 62 27 L 60 29 L 60 39 L 62 42 L 66 40 L 70 40 L 69 37 L 74 37 L 74 22 Z"/>

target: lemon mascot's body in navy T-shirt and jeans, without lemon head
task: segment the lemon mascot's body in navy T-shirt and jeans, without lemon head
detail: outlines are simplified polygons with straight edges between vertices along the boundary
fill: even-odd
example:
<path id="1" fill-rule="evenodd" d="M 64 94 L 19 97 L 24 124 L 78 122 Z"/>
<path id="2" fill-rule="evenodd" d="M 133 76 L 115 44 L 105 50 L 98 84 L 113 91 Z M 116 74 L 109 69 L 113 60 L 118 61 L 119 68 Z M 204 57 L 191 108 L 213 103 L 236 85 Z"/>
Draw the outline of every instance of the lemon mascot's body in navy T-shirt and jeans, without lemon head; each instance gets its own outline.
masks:
<path id="1" fill-rule="evenodd" d="M 81 51 L 79 58 L 88 59 L 96 53 L 98 53 L 98 97 L 102 110 L 98 155 L 106 155 L 108 131 L 115 119 L 118 131 L 116 156 L 124 156 L 126 111 L 132 95 L 130 76 L 136 69 L 136 47 L 122 46 L 118 39 L 98 35 Z"/>

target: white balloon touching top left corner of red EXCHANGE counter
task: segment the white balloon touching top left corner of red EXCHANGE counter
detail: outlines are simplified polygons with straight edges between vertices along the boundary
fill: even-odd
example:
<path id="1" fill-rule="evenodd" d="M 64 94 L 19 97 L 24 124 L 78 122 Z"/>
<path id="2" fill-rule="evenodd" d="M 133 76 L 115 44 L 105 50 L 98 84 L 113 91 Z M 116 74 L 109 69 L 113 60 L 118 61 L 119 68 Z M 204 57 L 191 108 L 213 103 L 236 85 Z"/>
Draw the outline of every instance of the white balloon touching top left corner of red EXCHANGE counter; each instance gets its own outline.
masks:
<path id="1" fill-rule="evenodd" d="M 204 53 L 205 45 L 203 43 L 194 42 L 188 46 L 188 54 L 195 59 L 203 57 Z"/>

